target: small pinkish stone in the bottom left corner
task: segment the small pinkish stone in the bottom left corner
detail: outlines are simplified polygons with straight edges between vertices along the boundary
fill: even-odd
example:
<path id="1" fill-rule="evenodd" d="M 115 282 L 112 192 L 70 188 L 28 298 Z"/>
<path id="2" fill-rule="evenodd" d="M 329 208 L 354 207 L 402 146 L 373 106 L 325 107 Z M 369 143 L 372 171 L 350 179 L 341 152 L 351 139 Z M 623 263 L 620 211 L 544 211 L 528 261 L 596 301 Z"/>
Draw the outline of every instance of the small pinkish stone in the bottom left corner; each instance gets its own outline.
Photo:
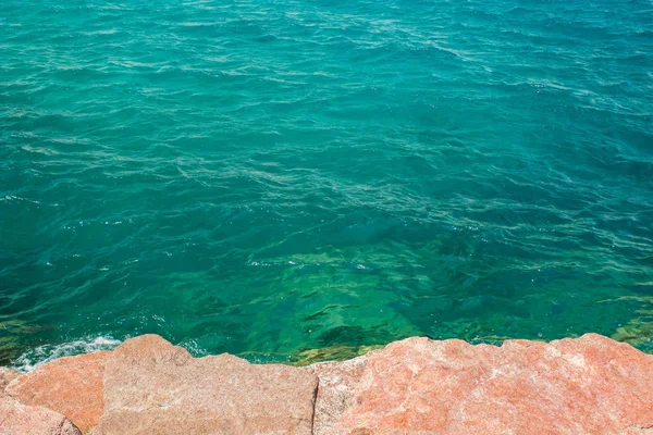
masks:
<path id="1" fill-rule="evenodd" d="M 42 407 L 20 403 L 9 396 L 0 397 L 1 435 L 81 435 L 65 417 Z"/>

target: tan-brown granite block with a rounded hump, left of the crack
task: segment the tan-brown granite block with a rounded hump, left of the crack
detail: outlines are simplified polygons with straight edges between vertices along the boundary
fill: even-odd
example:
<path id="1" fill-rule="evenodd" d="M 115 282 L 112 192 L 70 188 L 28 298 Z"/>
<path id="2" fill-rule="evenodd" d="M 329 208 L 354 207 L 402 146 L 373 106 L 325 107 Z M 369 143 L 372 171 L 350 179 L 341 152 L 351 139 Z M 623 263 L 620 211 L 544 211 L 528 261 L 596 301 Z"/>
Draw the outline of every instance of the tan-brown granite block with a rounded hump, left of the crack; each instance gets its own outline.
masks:
<path id="1" fill-rule="evenodd" d="M 104 371 L 102 435 L 311 434 L 318 378 L 221 355 L 195 359 L 159 336 L 119 346 Z"/>

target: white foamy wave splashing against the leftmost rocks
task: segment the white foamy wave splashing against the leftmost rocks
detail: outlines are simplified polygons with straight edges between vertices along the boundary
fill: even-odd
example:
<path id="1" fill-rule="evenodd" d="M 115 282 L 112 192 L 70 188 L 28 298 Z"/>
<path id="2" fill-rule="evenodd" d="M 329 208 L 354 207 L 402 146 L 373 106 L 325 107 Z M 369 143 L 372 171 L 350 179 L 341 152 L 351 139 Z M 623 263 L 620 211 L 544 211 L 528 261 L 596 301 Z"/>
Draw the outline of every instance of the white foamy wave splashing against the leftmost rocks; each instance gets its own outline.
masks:
<path id="1" fill-rule="evenodd" d="M 13 368 L 20 372 L 29 372 L 40 364 L 58 358 L 79 353 L 90 353 L 100 350 L 114 349 L 121 341 L 112 337 L 83 338 L 58 345 L 44 345 L 27 350 L 13 361 Z"/>

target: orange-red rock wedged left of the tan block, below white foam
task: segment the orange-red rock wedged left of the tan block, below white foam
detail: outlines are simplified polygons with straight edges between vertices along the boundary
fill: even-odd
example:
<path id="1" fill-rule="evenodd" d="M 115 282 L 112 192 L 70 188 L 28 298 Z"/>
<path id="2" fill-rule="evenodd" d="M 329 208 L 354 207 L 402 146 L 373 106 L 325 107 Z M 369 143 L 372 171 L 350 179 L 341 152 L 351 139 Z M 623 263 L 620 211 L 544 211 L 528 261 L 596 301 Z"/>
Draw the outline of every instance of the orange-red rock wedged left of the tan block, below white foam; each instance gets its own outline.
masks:
<path id="1" fill-rule="evenodd" d="M 103 351 L 57 359 L 16 377 L 7 393 L 22 403 L 57 411 L 87 432 L 102 415 L 102 376 L 110 355 Z"/>

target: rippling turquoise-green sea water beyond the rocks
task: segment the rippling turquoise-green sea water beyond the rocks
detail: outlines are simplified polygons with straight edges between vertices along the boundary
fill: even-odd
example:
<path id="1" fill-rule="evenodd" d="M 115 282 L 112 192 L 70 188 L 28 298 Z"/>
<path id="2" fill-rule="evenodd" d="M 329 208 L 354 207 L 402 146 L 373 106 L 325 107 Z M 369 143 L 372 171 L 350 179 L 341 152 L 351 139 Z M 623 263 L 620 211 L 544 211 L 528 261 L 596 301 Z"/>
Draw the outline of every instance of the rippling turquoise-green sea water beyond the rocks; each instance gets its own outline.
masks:
<path id="1" fill-rule="evenodd" d="M 653 349 L 650 0 L 0 2 L 0 360 Z"/>

